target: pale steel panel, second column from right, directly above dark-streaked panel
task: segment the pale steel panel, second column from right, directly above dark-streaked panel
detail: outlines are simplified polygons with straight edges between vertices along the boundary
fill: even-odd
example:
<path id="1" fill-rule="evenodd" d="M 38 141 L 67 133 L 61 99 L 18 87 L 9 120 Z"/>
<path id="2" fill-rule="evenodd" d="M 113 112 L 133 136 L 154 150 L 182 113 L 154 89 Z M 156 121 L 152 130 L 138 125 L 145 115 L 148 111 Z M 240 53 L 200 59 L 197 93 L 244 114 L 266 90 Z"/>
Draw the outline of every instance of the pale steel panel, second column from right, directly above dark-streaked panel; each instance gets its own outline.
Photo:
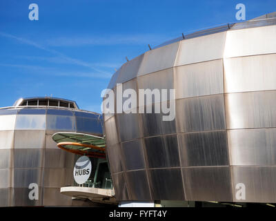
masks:
<path id="1" fill-rule="evenodd" d="M 175 67 L 175 97 L 224 93 L 222 59 Z"/>

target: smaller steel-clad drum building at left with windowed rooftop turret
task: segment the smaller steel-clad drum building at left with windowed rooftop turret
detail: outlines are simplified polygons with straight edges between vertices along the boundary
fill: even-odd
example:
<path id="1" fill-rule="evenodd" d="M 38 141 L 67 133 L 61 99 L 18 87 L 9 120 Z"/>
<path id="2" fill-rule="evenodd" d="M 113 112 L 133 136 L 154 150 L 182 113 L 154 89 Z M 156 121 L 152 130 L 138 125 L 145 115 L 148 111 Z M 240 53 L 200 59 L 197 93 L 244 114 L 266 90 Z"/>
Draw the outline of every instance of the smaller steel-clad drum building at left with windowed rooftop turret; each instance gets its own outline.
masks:
<path id="1" fill-rule="evenodd" d="M 73 184 L 76 155 L 57 148 L 52 135 L 60 131 L 101 135 L 101 115 L 53 97 L 0 108 L 0 206 L 72 205 L 60 188 Z M 39 186 L 36 200 L 29 198 L 32 183 Z"/>

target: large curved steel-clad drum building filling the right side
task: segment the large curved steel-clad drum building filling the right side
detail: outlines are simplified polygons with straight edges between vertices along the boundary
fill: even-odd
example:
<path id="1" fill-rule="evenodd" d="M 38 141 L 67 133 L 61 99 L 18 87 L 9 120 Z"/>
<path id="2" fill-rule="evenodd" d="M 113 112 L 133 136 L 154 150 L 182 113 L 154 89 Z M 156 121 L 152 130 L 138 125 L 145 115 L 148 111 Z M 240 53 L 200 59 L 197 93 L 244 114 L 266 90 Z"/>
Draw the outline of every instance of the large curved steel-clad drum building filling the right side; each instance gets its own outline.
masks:
<path id="1" fill-rule="evenodd" d="M 275 36 L 274 12 L 184 35 L 117 70 L 108 88 L 175 89 L 176 112 L 104 115 L 117 200 L 276 202 Z"/>

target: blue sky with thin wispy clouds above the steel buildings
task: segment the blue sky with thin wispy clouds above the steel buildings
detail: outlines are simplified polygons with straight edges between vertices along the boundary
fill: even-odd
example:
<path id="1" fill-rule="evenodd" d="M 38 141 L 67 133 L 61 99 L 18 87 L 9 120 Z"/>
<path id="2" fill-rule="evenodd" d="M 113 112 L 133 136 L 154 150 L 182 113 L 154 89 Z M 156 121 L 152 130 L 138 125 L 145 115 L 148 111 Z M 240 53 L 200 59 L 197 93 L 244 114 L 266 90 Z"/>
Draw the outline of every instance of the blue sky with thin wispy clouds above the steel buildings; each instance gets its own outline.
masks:
<path id="1" fill-rule="evenodd" d="M 30 21 L 30 3 L 39 21 Z M 276 11 L 275 0 L 1 0 L 0 106 L 52 95 L 100 112 L 101 90 L 124 62 L 181 33 Z"/>

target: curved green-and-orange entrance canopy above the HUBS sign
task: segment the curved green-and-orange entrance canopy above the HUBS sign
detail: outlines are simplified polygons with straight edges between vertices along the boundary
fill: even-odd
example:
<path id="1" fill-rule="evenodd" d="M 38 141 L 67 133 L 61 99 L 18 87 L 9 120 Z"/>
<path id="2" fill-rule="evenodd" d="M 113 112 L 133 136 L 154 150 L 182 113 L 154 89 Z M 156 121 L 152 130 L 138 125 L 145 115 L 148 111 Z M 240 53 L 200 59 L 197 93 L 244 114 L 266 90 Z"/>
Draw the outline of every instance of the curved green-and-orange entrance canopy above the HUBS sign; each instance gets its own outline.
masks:
<path id="1" fill-rule="evenodd" d="M 106 157 L 106 140 L 104 137 L 85 133 L 59 132 L 52 135 L 52 140 L 64 151 L 88 157 Z"/>

